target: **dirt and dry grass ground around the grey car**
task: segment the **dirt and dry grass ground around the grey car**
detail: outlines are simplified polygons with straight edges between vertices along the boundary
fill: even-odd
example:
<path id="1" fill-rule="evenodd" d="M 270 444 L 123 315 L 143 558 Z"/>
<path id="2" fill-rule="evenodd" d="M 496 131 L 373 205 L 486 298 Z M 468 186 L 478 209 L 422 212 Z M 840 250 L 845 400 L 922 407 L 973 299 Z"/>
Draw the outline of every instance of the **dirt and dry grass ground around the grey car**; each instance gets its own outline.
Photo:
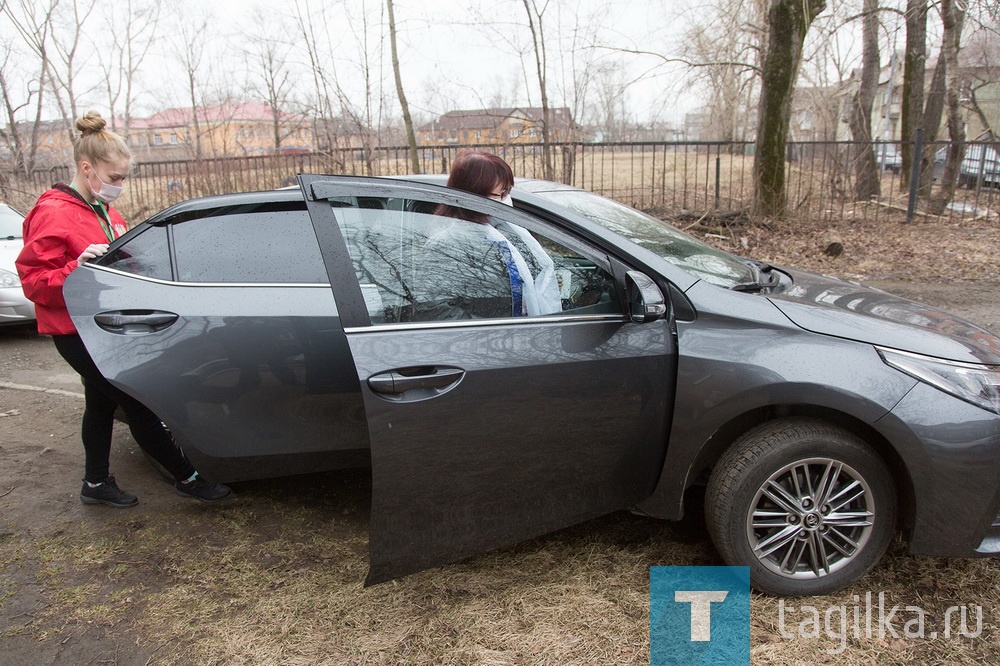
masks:
<path id="1" fill-rule="evenodd" d="M 708 238 L 776 263 L 891 282 L 908 295 L 931 289 L 938 305 L 976 292 L 986 305 L 966 313 L 1000 328 L 993 224 L 847 218 L 837 224 L 846 247 L 838 259 L 819 252 L 825 226 L 720 227 Z M 48 352 L 22 342 L 39 356 L 14 352 L 15 361 L 41 363 Z M 79 400 L 0 388 L 0 412 L 12 407 L 16 415 L 0 418 L 2 664 L 643 664 L 649 567 L 721 563 L 697 510 L 680 524 L 621 512 L 364 588 L 365 473 L 243 483 L 223 505 L 190 504 L 145 468 L 119 429 L 113 465 L 142 503 L 84 507 L 75 494 Z M 879 593 L 884 614 L 899 607 L 881 636 Z M 998 597 L 995 561 L 910 557 L 897 543 L 837 595 L 755 595 L 752 662 L 1000 663 Z M 918 629 L 906 624 L 918 617 L 907 606 L 925 613 L 922 637 L 904 635 Z M 971 611 L 975 637 L 957 635 L 957 615 L 945 637 L 955 606 Z"/>

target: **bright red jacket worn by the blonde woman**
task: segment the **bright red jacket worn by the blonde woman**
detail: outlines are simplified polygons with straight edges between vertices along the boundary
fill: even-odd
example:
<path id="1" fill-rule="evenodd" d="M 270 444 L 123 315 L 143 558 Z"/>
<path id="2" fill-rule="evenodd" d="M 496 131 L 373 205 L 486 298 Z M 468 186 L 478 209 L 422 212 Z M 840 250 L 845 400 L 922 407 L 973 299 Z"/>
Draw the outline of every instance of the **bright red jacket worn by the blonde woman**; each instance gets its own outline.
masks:
<path id="1" fill-rule="evenodd" d="M 114 236 L 128 226 L 114 208 L 107 207 Z M 14 264 L 24 295 L 35 303 L 38 332 L 76 333 L 66 311 L 62 287 L 77 267 L 77 257 L 88 245 L 107 243 L 97 213 L 72 188 L 58 184 L 46 190 L 24 218 L 24 248 Z"/>

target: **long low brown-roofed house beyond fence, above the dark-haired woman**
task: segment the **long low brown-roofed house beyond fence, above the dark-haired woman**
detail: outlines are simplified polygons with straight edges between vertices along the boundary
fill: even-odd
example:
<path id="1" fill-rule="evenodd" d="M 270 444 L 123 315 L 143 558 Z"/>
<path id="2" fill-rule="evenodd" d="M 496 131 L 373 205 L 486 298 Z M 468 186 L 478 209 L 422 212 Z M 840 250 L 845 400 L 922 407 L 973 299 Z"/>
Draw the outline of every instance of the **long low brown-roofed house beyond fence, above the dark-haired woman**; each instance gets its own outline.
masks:
<path id="1" fill-rule="evenodd" d="M 417 129 L 422 146 L 510 145 L 542 140 L 541 107 L 505 107 L 449 111 Z M 549 109 L 549 140 L 577 141 L 580 129 L 566 107 Z"/>

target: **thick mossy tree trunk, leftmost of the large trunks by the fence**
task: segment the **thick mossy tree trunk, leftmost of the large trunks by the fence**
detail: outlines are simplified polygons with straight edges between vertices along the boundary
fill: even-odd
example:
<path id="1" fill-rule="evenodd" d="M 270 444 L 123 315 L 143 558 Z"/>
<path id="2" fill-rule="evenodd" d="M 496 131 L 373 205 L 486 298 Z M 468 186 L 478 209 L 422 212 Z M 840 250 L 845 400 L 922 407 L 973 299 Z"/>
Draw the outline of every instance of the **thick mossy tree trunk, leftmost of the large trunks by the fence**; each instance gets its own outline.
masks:
<path id="1" fill-rule="evenodd" d="M 781 217 L 786 213 L 785 149 L 792 93 L 806 32 L 825 7 L 825 0 L 772 0 L 768 11 L 767 52 L 761 73 L 757 153 L 753 163 L 754 212 L 763 217 Z"/>

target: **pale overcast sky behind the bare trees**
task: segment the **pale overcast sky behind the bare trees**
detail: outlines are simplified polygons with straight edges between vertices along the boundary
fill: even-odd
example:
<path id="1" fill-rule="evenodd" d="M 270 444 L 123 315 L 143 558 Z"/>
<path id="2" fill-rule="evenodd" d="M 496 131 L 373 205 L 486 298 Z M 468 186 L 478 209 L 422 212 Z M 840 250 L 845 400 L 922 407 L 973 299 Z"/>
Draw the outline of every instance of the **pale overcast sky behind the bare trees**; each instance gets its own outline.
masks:
<path id="1" fill-rule="evenodd" d="M 76 0 L 81 5 L 91 1 Z M 96 4 L 86 24 L 86 43 L 80 48 L 77 62 L 80 74 L 75 89 L 79 107 L 108 111 L 98 54 L 106 55 L 112 37 L 123 33 L 122 16 L 130 5 L 141 7 L 159 1 L 101 0 Z M 702 104 L 704 91 L 690 84 L 686 79 L 688 72 L 681 65 L 664 64 L 662 58 L 624 53 L 621 49 L 667 57 L 679 55 L 682 36 L 691 21 L 704 19 L 703 3 L 697 0 L 529 1 L 546 7 L 544 28 L 551 105 L 568 106 L 581 115 L 580 96 L 574 98 L 570 94 L 569 83 L 585 78 L 580 71 L 586 67 L 591 72 L 602 70 L 603 74 L 591 75 L 583 100 L 594 104 L 601 89 L 622 89 L 619 104 L 630 120 L 679 123 L 685 112 Z M 23 2 L 30 5 L 32 0 Z M 71 16 L 68 12 L 72 3 L 73 0 L 60 1 L 64 21 Z M 12 2 L 8 7 L 16 4 Z M 211 91 L 206 93 L 205 101 L 215 101 L 212 95 L 246 97 L 247 86 L 257 78 L 246 52 L 253 49 L 255 39 L 268 36 L 288 48 L 287 60 L 295 83 L 290 105 L 294 106 L 295 101 L 305 102 L 314 88 L 307 57 L 300 48 L 302 37 L 294 23 L 296 8 L 311 17 L 313 29 L 326 42 L 329 55 L 324 57 L 324 66 L 336 72 L 348 103 L 364 107 L 364 100 L 369 97 L 367 72 L 367 92 L 387 100 L 383 116 L 398 114 L 384 0 L 280 3 L 174 0 L 160 6 L 162 16 L 154 49 L 134 80 L 140 91 L 134 95 L 134 115 L 190 103 L 177 56 L 178 43 L 184 41 L 183 25 L 203 22 L 208 27 L 199 36 L 205 58 L 198 76 Z M 118 17 L 110 29 L 105 19 L 109 12 Z M 540 105 L 523 0 L 395 0 L 395 14 L 403 85 L 418 120 L 458 108 Z M 837 41 L 841 39 L 842 52 L 855 48 L 849 37 L 838 33 Z M 2 15 L 0 40 L 14 44 L 21 41 L 10 20 Z M 9 62 L 5 68 L 8 80 L 37 75 L 34 68 L 21 66 L 30 62 L 30 57 L 15 57 L 13 66 Z M 842 65 L 843 61 L 840 72 L 844 71 Z M 22 80 L 13 89 L 20 90 L 23 97 L 31 85 Z M 116 111 L 121 113 L 123 104 L 119 102 L 117 106 Z M 56 117 L 58 113 L 53 107 L 48 115 Z"/>

